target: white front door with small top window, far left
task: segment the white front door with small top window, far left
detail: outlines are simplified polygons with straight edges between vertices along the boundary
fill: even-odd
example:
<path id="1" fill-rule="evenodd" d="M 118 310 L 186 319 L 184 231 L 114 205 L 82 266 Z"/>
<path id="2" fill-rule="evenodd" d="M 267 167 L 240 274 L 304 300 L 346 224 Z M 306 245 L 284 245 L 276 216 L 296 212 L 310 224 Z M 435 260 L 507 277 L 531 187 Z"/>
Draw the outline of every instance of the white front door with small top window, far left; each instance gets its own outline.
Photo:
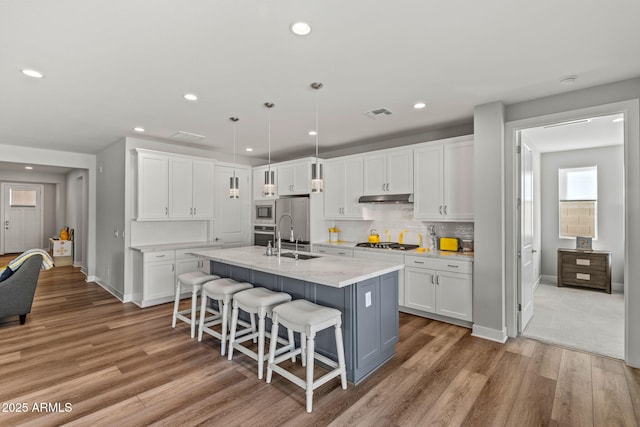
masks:
<path id="1" fill-rule="evenodd" d="M 5 253 L 41 247 L 42 191 L 42 185 L 3 184 Z"/>

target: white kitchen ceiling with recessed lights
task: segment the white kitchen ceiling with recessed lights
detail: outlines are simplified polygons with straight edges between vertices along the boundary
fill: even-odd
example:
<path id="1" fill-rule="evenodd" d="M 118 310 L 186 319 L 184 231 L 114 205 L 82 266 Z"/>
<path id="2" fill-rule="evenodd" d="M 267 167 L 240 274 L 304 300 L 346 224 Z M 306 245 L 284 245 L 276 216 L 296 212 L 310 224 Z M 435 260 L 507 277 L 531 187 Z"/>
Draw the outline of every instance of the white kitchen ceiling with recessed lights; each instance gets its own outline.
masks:
<path id="1" fill-rule="evenodd" d="M 142 126 L 231 152 L 237 116 L 239 154 L 264 158 L 270 101 L 274 160 L 313 155 L 320 81 L 322 157 L 639 76 L 638 16 L 637 0 L 2 1 L 0 144 L 96 153 Z M 289 31 L 297 20 L 309 36 Z M 364 116 L 381 107 L 393 114 Z"/>

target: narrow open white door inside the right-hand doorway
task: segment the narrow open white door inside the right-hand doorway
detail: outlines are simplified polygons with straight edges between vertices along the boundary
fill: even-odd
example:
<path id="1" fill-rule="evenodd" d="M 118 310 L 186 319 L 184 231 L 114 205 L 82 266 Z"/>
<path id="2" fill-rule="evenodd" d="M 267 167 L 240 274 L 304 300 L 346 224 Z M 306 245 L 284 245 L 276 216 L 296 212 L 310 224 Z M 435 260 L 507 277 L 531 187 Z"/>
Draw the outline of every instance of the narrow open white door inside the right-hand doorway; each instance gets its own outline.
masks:
<path id="1" fill-rule="evenodd" d="M 520 294 L 518 323 L 520 333 L 533 317 L 533 156 L 531 148 L 522 144 L 520 151 Z"/>

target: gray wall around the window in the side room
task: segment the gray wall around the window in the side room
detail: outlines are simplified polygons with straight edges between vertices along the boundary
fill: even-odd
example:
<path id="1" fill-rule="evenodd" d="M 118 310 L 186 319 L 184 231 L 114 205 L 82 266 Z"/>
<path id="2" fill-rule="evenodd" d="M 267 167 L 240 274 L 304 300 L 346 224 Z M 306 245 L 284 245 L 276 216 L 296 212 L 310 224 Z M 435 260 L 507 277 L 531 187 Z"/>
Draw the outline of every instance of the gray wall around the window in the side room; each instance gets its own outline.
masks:
<path id="1" fill-rule="evenodd" d="M 624 147 L 542 154 L 542 274 L 557 274 L 557 249 L 575 248 L 558 237 L 558 169 L 598 166 L 598 236 L 594 249 L 613 252 L 612 280 L 624 282 Z"/>

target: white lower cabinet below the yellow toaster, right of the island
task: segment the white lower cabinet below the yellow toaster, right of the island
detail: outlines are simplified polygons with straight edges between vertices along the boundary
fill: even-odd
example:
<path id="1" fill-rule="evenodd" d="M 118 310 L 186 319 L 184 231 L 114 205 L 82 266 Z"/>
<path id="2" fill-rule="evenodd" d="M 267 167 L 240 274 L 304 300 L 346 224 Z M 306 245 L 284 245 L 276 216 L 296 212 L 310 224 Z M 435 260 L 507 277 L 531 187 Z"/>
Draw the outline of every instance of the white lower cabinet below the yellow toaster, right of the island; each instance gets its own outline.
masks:
<path id="1" fill-rule="evenodd" d="M 473 265 L 407 255 L 405 307 L 471 322 Z"/>

